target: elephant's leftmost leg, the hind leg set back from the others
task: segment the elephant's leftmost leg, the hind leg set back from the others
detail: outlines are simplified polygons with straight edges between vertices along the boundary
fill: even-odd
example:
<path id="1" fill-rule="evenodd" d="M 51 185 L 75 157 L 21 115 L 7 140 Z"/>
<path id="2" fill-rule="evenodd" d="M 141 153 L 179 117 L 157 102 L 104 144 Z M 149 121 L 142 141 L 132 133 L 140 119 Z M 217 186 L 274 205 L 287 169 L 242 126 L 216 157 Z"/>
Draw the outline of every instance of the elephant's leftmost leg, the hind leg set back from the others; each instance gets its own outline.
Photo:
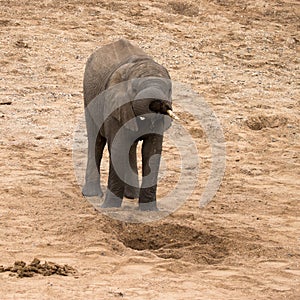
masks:
<path id="1" fill-rule="evenodd" d="M 103 196 L 100 185 L 100 162 L 106 139 L 99 134 L 99 129 L 92 120 L 89 112 L 86 112 L 86 128 L 88 135 L 88 161 L 85 175 L 85 185 L 82 194 L 87 197 Z"/>

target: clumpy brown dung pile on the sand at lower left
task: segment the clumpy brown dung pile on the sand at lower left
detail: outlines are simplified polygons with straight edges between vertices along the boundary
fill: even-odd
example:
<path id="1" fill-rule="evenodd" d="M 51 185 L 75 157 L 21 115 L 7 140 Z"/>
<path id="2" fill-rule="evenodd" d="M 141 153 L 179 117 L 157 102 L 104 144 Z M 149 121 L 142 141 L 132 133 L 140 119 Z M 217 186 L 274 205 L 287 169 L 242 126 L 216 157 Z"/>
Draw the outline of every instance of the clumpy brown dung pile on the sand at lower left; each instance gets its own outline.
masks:
<path id="1" fill-rule="evenodd" d="M 59 265 L 54 262 L 44 262 L 38 258 L 35 258 L 29 265 L 26 265 L 24 261 L 16 261 L 12 267 L 0 266 L 1 272 L 11 272 L 13 276 L 16 274 L 18 277 L 33 277 L 34 275 L 40 274 L 43 276 L 61 275 L 69 276 L 77 274 L 77 271 L 69 265 Z"/>

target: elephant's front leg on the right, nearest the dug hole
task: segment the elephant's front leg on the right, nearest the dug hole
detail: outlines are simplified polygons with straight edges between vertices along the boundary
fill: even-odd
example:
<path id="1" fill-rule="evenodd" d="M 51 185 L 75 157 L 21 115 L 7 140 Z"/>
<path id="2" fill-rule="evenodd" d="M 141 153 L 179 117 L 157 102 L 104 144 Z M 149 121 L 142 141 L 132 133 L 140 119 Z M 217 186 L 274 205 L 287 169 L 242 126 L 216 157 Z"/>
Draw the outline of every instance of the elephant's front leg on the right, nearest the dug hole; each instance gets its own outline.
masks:
<path id="1" fill-rule="evenodd" d="M 139 195 L 140 210 L 157 210 L 156 190 L 163 136 L 149 134 L 143 140 L 143 179 Z"/>

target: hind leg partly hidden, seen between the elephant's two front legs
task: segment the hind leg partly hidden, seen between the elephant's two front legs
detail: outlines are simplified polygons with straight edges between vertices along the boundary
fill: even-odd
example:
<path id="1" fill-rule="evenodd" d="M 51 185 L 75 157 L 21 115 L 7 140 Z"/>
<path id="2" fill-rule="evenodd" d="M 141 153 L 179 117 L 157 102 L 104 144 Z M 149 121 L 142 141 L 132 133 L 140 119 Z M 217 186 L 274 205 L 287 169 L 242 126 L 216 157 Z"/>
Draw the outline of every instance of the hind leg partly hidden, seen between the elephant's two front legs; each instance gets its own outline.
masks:
<path id="1" fill-rule="evenodd" d="M 129 163 L 131 170 L 126 173 L 126 183 L 124 196 L 128 199 L 135 199 L 139 196 L 139 179 L 137 169 L 136 147 L 138 142 L 134 142 L 129 150 Z"/>

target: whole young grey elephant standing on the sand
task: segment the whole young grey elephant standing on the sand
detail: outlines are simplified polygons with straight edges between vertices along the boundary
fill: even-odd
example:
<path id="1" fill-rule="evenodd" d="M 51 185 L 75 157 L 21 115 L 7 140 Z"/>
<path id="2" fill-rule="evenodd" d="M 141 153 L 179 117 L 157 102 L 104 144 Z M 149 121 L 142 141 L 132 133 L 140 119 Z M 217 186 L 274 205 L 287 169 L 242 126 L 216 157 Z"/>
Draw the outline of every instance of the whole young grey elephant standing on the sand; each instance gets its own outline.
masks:
<path id="1" fill-rule="evenodd" d="M 106 45 L 87 61 L 84 106 L 88 162 L 83 195 L 103 195 L 100 163 L 107 144 L 110 166 L 102 207 L 120 207 L 125 196 L 139 198 L 141 210 L 157 210 L 163 132 L 171 125 L 166 116 L 167 109 L 172 109 L 167 70 L 127 40 Z M 140 118 L 141 115 L 145 118 Z M 143 143 L 140 188 L 136 159 L 138 141 Z"/>

